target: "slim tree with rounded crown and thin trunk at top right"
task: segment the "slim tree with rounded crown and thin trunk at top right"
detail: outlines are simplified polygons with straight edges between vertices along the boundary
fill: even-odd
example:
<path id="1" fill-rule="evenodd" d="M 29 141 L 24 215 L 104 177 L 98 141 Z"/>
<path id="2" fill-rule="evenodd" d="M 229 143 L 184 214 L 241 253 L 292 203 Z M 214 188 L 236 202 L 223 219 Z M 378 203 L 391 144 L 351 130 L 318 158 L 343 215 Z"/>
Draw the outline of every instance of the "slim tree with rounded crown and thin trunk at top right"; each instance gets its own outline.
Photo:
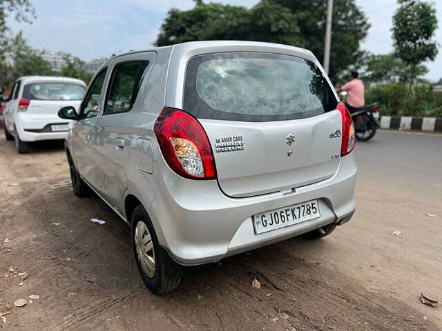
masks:
<path id="1" fill-rule="evenodd" d="M 410 88 L 416 82 L 419 65 L 432 61 L 437 55 L 433 40 L 437 28 L 436 9 L 431 3 L 419 0 L 398 0 L 399 8 L 393 16 L 394 50 L 410 66 Z"/>

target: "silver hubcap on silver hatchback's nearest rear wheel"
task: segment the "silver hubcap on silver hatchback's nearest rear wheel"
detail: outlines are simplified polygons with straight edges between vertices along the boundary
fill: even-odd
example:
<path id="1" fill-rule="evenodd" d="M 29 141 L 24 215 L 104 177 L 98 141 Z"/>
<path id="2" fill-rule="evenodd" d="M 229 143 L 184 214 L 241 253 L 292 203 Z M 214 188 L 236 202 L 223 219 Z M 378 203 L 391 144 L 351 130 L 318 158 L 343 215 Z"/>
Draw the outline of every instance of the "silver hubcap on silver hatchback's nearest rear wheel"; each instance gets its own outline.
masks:
<path id="1" fill-rule="evenodd" d="M 142 221 L 139 221 L 135 226 L 135 250 L 144 273 L 147 277 L 152 278 L 155 274 L 155 251 L 151 234 Z"/>

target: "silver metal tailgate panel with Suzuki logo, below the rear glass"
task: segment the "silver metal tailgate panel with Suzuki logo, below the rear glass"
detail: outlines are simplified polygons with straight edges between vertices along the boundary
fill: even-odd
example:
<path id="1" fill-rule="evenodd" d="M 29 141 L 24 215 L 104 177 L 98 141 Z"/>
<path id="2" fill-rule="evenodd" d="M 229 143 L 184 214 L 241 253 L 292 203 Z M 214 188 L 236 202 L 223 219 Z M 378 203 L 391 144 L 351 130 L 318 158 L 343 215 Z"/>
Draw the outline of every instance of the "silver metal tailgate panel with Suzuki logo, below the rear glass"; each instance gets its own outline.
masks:
<path id="1" fill-rule="evenodd" d="M 338 169 L 341 119 L 337 112 L 227 126 L 202 120 L 202 126 L 214 151 L 220 188 L 232 197 L 291 190 L 332 177 Z"/>

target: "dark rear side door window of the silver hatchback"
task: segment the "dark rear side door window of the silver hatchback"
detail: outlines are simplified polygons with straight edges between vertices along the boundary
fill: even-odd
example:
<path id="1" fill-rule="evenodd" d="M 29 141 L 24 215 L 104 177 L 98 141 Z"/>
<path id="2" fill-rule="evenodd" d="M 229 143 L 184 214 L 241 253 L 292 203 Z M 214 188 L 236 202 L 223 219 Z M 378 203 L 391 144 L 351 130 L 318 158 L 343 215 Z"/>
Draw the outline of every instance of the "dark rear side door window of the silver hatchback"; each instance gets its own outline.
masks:
<path id="1" fill-rule="evenodd" d="M 147 65 L 146 61 L 131 61 L 115 66 L 103 114 L 128 112 L 132 109 Z"/>

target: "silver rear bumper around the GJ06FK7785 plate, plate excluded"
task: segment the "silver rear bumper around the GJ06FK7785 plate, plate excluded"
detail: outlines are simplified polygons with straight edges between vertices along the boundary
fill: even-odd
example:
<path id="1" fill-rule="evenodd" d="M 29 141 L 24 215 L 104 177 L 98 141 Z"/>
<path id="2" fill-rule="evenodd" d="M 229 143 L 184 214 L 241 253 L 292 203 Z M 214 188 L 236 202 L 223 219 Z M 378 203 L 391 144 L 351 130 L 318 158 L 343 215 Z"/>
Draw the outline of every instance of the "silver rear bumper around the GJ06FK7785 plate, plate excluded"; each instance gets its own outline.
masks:
<path id="1" fill-rule="evenodd" d="M 191 181 L 163 170 L 159 190 L 148 212 L 160 244 L 182 265 L 224 257 L 276 243 L 329 223 L 345 223 L 355 210 L 354 153 L 340 159 L 334 176 L 296 189 L 259 197 L 231 198 L 216 181 Z M 267 210 L 318 199 L 321 217 L 256 235 L 251 216 Z"/>

